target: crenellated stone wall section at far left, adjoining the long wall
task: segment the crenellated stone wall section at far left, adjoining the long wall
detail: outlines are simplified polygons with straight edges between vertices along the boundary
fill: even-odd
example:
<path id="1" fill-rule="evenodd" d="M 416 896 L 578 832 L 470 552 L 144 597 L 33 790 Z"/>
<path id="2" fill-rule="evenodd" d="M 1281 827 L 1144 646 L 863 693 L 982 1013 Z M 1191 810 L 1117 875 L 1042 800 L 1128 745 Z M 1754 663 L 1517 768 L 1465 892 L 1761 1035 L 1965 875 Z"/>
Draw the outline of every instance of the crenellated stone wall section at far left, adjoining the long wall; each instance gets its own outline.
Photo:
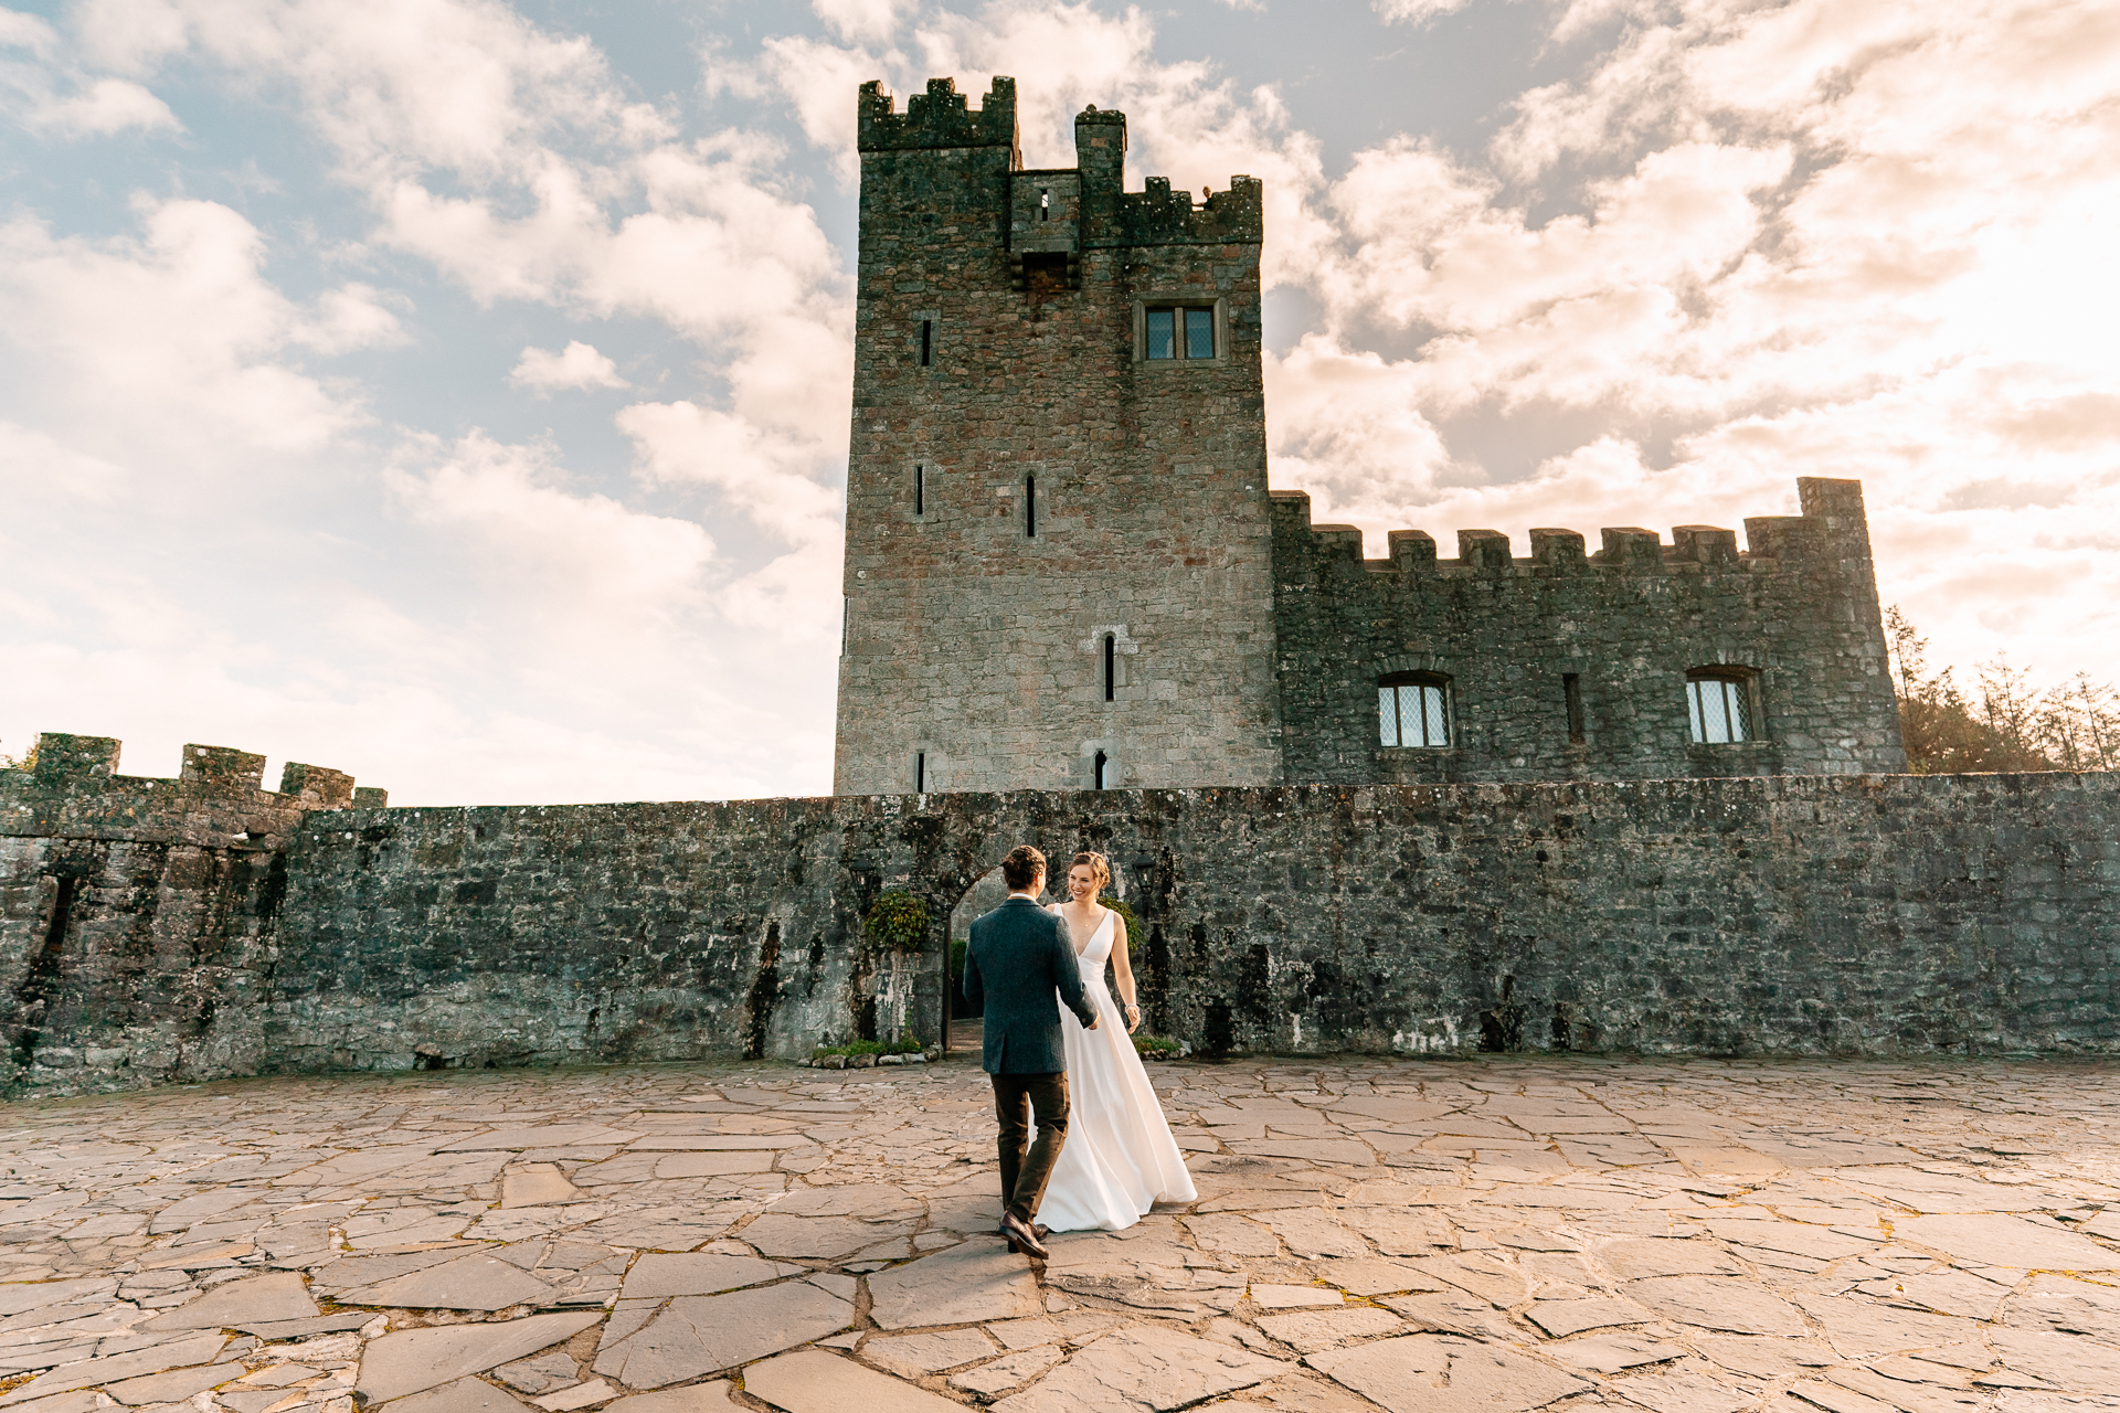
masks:
<path id="1" fill-rule="evenodd" d="M 265 790 L 265 756 L 216 746 L 174 780 L 117 765 L 108 737 L 47 733 L 0 771 L 4 1087 L 254 1074 L 295 833 L 388 803 L 314 765 Z"/>

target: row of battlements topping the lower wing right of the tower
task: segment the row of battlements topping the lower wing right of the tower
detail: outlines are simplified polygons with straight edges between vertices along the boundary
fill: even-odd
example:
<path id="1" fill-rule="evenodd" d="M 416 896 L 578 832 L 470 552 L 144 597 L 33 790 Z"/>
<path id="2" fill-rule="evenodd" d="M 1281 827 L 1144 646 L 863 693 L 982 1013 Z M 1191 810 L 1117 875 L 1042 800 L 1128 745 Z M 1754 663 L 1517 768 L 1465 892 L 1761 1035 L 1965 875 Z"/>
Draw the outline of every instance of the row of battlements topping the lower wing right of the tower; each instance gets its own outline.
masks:
<path id="1" fill-rule="evenodd" d="M 1539 527 L 1531 532 L 1531 555 L 1518 557 L 1499 530 L 1459 530 L 1456 559 L 1439 559 L 1427 530 L 1393 530 L 1382 559 L 1363 559 L 1361 530 L 1310 523 L 1308 491 L 1272 491 L 1274 517 L 1304 530 L 1321 555 L 1353 559 L 1372 574 L 1683 574 L 1683 572 L 1777 572 L 1810 568 L 1830 559 L 1870 557 L 1861 481 L 1800 477 L 1804 515 L 1753 515 L 1745 519 L 1745 551 L 1736 532 L 1719 525 L 1673 525 L 1671 542 L 1641 525 L 1598 530 L 1598 549 L 1588 551 L 1579 530 Z"/>

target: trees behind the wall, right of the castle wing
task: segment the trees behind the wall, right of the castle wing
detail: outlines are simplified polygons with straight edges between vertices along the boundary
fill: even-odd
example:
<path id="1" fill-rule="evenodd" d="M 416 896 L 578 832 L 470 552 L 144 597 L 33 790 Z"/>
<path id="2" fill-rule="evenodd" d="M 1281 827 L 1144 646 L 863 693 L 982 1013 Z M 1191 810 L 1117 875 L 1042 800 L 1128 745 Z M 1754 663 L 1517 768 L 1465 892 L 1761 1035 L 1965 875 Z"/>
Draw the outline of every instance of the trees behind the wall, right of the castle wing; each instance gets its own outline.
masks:
<path id="1" fill-rule="evenodd" d="M 2120 693 L 2078 672 L 2039 691 L 2008 652 L 1976 663 L 1967 691 L 1953 669 L 1931 674 L 1929 640 L 1900 606 L 1885 610 L 1891 669 L 1900 693 L 1900 735 L 1906 769 L 1916 775 L 1957 771 L 2109 771 L 2120 767 Z"/>

